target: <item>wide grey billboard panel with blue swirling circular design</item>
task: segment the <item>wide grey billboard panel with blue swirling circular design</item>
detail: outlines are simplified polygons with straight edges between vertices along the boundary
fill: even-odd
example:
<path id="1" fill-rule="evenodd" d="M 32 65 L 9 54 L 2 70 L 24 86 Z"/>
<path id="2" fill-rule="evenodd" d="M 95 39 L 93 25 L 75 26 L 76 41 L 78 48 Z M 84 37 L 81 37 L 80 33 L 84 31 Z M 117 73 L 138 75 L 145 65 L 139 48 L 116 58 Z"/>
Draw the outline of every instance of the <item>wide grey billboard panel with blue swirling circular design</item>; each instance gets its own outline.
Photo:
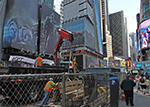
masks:
<path id="1" fill-rule="evenodd" d="M 30 8 L 29 8 L 30 7 Z M 33 25 L 38 24 L 38 2 L 31 0 L 7 0 L 4 21 L 3 48 L 36 50 L 36 34 Z M 37 27 L 34 28 L 37 30 Z"/>

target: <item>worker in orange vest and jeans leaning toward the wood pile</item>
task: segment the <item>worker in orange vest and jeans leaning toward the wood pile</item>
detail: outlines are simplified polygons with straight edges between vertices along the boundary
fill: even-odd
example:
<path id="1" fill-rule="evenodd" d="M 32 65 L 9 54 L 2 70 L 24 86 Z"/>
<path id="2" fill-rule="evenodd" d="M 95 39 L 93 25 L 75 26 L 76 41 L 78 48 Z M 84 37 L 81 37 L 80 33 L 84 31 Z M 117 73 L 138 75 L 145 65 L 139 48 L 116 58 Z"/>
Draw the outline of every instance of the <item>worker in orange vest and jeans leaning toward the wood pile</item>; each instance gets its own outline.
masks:
<path id="1" fill-rule="evenodd" d="M 45 96 L 44 96 L 44 98 L 43 98 L 43 100 L 42 100 L 42 102 L 41 102 L 41 104 L 40 104 L 40 107 L 42 107 L 43 105 L 47 104 L 47 101 L 48 101 L 48 99 L 49 99 L 49 94 L 50 94 L 51 91 L 52 91 L 52 87 L 53 87 L 54 85 L 57 85 L 57 83 L 55 84 L 55 83 L 53 82 L 53 78 L 50 78 L 49 80 L 50 80 L 50 81 L 48 81 L 48 82 L 46 83 L 46 86 L 44 87 Z"/>

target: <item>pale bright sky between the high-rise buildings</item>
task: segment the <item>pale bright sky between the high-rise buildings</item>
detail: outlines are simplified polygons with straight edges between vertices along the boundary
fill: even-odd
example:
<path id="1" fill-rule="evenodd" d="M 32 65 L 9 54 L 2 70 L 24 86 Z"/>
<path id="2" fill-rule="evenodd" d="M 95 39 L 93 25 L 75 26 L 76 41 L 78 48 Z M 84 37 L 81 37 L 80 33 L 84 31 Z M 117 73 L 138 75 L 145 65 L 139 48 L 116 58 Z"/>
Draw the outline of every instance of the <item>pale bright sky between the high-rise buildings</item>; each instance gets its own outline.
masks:
<path id="1" fill-rule="evenodd" d="M 128 32 L 136 32 L 136 14 L 140 13 L 140 0 L 108 0 L 109 14 L 124 11 L 127 17 Z"/>

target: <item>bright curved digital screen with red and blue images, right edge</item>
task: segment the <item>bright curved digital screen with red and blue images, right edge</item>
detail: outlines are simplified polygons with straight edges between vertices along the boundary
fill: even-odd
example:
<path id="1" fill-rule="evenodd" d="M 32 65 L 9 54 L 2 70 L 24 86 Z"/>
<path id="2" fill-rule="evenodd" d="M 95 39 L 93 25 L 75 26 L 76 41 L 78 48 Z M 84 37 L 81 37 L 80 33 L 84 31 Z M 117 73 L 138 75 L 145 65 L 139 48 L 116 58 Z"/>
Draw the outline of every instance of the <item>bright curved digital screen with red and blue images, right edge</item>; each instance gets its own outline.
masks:
<path id="1" fill-rule="evenodd" d="M 150 19 L 141 22 L 139 25 L 137 47 L 137 52 L 143 48 L 150 47 Z"/>

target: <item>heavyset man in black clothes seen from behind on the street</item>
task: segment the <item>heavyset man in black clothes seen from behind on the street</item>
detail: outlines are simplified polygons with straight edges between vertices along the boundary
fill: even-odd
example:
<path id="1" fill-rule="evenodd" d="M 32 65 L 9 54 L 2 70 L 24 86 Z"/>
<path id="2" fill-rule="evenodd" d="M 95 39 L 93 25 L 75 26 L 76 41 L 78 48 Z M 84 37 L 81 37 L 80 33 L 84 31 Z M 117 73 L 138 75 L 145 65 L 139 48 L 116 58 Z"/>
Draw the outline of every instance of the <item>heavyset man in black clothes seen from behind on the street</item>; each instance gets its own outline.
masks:
<path id="1" fill-rule="evenodd" d="M 129 99 L 130 99 L 130 105 L 134 106 L 133 103 L 133 87 L 136 85 L 136 83 L 129 79 L 129 75 L 126 75 L 126 79 L 124 79 L 121 82 L 121 89 L 124 90 L 124 94 L 125 94 L 125 101 L 126 101 L 126 105 L 129 105 Z"/>

